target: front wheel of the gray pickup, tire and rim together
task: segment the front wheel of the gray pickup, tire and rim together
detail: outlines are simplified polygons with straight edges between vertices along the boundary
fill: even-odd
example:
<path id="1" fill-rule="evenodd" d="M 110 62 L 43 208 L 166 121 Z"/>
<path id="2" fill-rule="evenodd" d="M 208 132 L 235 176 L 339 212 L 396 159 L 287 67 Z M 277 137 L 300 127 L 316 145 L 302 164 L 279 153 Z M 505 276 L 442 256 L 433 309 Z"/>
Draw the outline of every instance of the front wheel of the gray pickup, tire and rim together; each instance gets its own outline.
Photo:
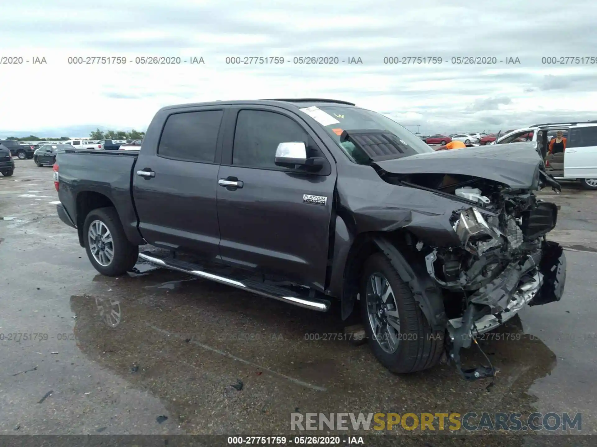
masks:
<path id="1" fill-rule="evenodd" d="M 365 262 L 361 313 L 374 355 L 392 373 L 426 370 L 439 362 L 444 331 L 433 331 L 413 291 L 384 254 Z"/>

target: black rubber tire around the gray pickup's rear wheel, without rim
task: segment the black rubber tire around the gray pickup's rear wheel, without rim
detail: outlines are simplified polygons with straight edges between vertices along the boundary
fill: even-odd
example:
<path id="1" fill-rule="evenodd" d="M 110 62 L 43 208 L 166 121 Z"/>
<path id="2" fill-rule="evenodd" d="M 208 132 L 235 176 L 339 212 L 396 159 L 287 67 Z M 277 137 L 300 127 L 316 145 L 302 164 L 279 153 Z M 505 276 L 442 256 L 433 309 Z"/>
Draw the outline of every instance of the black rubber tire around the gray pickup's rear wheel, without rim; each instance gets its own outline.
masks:
<path id="1" fill-rule="evenodd" d="M 102 222 L 107 226 L 110 234 L 112 234 L 114 254 L 110 263 L 105 266 L 97 262 L 91 253 L 88 232 L 93 221 Z M 127 235 L 124 233 L 118 213 L 113 207 L 97 208 L 91 210 L 91 212 L 85 218 L 85 223 L 83 224 L 83 243 L 85 245 L 87 257 L 89 257 L 91 264 L 98 272 L 108 277 L 123 275 L 130 271 L 130 269 L 132 269 L 137 263 L 137 258 L 139 257 L 139 246 L 131 244 L 127 239 Z"/>

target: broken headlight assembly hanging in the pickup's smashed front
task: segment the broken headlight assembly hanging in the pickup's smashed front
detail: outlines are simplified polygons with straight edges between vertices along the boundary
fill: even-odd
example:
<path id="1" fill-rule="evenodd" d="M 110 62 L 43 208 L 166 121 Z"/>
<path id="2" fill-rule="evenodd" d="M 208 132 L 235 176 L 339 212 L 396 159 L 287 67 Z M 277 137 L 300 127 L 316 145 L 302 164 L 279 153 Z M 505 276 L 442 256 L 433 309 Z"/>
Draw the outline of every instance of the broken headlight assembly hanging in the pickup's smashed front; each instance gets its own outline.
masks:
<path id="1" fill-rule="evenodd" d="M 501 247 L 506 241 L 506 236 L 500 229 L 491 225 L 476 207 L 455 213 L 452 224 L 464 249 L 476 256 Z"/>

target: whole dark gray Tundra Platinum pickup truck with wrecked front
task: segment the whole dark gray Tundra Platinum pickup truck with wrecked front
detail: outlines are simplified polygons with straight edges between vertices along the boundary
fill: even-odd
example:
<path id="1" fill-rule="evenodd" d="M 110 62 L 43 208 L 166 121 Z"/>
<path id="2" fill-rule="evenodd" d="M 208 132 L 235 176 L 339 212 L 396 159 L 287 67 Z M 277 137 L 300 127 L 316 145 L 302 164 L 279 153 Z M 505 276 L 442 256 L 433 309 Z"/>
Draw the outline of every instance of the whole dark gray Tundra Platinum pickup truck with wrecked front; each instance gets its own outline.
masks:
<path id="1" fill-rule="evenodd" d="M 475 380 L 494 368 L 465 370 L 461 348 L 564 290 L 543 169 L 533 142 L 435 152 L 355 104 L 281 99 L 162 108 L 140 151 L 60 151 L 54 181 L 101 274 L 139 257 L 314 311 L 338 302 L 390 371 L 445 352 Z"/>

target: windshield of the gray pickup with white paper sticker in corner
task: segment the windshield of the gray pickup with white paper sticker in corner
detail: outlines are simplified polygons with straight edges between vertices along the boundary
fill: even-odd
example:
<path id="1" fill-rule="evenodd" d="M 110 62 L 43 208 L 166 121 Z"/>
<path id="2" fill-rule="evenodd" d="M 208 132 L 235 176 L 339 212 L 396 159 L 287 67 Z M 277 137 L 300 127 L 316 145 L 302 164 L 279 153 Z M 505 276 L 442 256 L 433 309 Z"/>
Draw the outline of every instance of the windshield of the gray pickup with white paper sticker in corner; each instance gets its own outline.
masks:
<path id="1" fill-rule="evenodd" d="M 329 119 L 326 119 L 323 122 L 319 119 L 320 117 L 318 117 L 318 122 L 321 123 L 328 134 L 330 134 L 334 141 L 336 141 L 346 156 L 355 163 L 366 164 L 370 159 L 367 154 L 362 150 L 359 150 L 352 144 L 352 142 L 340 142 L 340 135 L 345 130 L 381 129 L 383 131 L 389 131 L 398 136 L 401 142 L 405 145 L 407 156 L 424 152 L 433 152 L 432 148 L 421 141 L 421 139 L 412 132 L 380 113 L 358 107 L 334 106 L 318 108 L 330 116 Z M 328 122 L 334 123 L 325 126 L 324 124 L 327 124 Z"/>

